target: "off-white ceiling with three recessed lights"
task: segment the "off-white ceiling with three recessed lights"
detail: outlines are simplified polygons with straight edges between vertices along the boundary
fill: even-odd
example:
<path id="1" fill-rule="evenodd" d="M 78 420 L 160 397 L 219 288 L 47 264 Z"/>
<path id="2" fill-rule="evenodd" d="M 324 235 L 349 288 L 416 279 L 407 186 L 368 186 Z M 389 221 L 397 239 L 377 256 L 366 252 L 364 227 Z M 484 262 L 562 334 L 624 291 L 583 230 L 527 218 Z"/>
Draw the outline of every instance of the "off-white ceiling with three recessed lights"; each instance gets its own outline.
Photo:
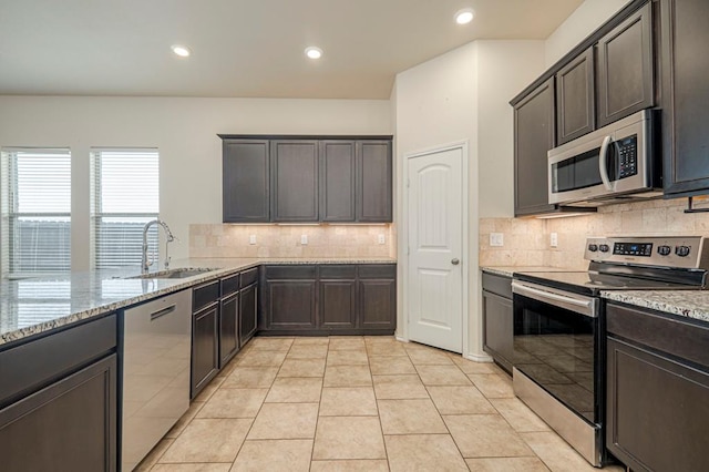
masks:
<path id="1" fill-rule="evenodd" d="M 398 72 L 475 39 L 546 39 L 582 2 L 0 0 L 0 94 L 388 99 Z"/>

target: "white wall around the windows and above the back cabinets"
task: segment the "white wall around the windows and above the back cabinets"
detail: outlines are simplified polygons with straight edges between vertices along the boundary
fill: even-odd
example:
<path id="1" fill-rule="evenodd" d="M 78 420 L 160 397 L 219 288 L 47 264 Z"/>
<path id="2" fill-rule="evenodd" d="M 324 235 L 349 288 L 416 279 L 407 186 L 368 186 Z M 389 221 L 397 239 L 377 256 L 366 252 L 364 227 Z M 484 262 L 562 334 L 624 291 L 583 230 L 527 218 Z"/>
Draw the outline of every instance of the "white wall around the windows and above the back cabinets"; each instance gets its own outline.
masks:
<path id="1" fill-rule="evenodd" d="M 182 239 L 188 225 L 222 222 L 217 133 L 391 134 L 388 100 L 0 96 L 0 146 L 72 151 L 72 269 L 90 266 L 89 151 L 157 147 L 161 218 Z"/>

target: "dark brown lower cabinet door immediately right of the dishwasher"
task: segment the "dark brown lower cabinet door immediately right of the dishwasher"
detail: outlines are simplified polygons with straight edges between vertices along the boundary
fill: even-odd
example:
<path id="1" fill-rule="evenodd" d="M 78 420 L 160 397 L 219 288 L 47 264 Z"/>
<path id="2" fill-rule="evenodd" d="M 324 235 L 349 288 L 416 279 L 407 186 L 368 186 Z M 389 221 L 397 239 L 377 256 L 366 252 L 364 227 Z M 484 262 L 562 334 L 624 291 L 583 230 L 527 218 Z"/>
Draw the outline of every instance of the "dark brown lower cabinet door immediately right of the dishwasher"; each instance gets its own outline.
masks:
<path id="1" fill-rule="evenodd" d="M 192 316 L 192 392 L 195 398 L 219 371 L 219 302 Z"/>

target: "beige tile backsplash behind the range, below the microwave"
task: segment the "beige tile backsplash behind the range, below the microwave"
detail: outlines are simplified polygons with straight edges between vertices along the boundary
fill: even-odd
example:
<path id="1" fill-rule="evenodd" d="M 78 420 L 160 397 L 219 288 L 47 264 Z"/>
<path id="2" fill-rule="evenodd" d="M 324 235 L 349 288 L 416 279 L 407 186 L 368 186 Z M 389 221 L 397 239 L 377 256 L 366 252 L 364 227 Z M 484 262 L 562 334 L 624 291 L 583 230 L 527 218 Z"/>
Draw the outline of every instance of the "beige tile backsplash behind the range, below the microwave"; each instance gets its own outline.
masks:
<path id="1" fill-rule="evenodd" d="M 709 207 L 709 199 L 696 198 L 696 206 Z M 686 208 L 687 199 L 677 198 L 608 205 L 567 218 L 482 218 L 480 265 L 586 269 L 588 236 L 709 236 L 709 213 L 687 214 Z M 504 246 L 491 247 L 491 233 L 503 233 Z M 551 247 L 552 233 L 558 235 L 557 247 Z"/>

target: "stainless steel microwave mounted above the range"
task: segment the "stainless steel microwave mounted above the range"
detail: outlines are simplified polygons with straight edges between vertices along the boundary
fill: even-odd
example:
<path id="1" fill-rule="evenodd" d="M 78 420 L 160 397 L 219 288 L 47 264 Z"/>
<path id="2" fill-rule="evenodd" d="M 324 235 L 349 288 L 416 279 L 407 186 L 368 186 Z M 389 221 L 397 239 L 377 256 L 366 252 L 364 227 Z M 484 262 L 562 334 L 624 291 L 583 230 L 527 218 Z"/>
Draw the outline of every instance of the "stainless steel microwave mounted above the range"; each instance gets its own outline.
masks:
<path id="1" fill-rule="evenodd" d="M 548 152 L 549 203 L 597 206 L 661 192 L 659 115 L 644 110 Z"/>

